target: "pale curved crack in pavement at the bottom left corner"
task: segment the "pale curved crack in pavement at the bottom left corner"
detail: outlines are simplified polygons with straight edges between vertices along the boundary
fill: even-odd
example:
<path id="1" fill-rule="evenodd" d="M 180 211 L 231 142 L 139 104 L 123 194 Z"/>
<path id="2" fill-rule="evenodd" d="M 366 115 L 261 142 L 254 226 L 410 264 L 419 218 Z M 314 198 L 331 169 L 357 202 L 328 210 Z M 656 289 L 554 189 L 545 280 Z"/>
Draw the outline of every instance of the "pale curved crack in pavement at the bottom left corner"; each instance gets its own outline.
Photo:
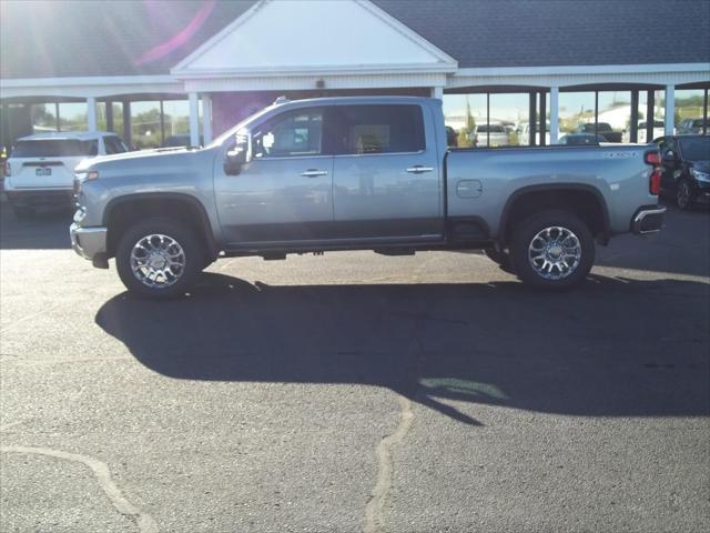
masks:
<path id="1" fill-rule="evenodd" d="M 81 463 L 85 466 L 89 466 L 89 469 L 91 469 L 93 474 L 97 476 L 99 486 L 101 486 L 108 499 L 111 501 L 111 504 L 119 513 L 130 519 L 134 519 L 141 533 L 159 532 L 158 522 L 155 522 L 155 520 L 150 514 L 138 509 L 123 496 L 121 490 L 111 479 L 111 471 L 104 462 L 99 461 L 98 459 L 90 457 L 88 455 L 68 453 L 49 447 L 0 446 L 0 452 L 44 455 L 48 457 L 61 459 L 64 461 Z"/>

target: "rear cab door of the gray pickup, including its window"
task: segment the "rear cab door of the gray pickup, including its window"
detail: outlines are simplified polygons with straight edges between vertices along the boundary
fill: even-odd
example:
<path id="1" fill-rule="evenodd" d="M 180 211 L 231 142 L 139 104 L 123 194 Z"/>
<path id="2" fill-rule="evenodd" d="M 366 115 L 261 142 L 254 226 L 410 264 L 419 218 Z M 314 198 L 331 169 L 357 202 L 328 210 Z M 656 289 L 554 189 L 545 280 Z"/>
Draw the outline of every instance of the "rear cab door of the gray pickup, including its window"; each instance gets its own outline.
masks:
<path id="1" fill-rule="evenodd" d="M 443 238 L 439 161 L 428 111 L 410 103 L 333 108 L 337 237 Z"/>

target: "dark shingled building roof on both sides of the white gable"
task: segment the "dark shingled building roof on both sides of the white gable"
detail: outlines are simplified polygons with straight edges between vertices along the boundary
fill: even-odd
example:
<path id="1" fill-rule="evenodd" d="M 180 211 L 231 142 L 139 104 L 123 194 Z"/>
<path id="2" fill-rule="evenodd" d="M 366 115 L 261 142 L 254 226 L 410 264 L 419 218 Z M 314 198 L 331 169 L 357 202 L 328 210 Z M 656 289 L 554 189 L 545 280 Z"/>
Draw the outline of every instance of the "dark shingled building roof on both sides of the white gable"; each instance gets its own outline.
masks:
<path id="1" fill-rule="evenodd" d="M 374 3 L 458 60 L 459 68 L 710 63 L 708 0 Z M 0 77 L 169 74 L 253 4 L 2 0 Z"/>

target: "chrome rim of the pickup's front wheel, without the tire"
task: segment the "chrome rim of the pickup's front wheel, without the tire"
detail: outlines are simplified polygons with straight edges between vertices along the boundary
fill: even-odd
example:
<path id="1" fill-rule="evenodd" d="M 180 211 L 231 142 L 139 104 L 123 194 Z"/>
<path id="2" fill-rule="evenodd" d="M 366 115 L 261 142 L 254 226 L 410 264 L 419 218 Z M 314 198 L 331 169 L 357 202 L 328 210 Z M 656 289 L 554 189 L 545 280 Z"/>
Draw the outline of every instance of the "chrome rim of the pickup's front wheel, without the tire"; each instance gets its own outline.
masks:
<path id="1" fill-rule="evenodd" d="M 171 237 L 145 235 L 131 250 L 131 271 L 148 288 L 171 286 L 185 272 L 185 252 Z"/>

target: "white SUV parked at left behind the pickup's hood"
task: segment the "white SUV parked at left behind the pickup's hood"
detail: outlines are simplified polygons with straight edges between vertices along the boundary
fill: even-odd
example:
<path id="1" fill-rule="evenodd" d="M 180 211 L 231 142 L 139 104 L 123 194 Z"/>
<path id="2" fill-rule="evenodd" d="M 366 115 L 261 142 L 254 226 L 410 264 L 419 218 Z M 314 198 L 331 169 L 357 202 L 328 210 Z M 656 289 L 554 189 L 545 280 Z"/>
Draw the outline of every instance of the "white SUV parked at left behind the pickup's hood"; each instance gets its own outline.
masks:
<path id="1" fill-rule="evenodd" d="M 62 131 L 18 139 L 6 162 L 4 192 L 18 218 L 40 205 L 71 205 L 74 168 L 84 159 L 126 152 L 115 133 Z"/>

